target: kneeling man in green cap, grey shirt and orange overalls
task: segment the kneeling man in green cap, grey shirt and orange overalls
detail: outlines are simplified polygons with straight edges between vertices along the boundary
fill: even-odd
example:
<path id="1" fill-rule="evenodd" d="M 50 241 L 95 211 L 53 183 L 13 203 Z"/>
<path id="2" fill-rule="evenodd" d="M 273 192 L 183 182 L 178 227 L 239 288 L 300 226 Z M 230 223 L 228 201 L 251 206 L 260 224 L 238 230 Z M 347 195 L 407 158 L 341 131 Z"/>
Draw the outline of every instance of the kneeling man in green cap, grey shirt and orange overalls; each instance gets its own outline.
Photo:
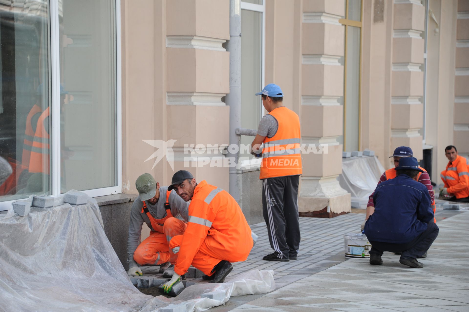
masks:
<path id="1" fill-rule="evenodd" d="M 150 173 L 138 177 L 135 186 L 139 196 L 130 211 L 128 274 L 142 276 L 138 265 L 161 265 L 159 273 L 164 273 L 177 259 L 177 254 L 169 249 L 169 241 L 176 235 L 182 235 L 187 227 L 186 223 L 175 217 L 181 215 L 187 221 L 189 205 L 167 186 L 160 187 Z M 150 236 L 139 245 L 143 223 L 151 231 Z"/>

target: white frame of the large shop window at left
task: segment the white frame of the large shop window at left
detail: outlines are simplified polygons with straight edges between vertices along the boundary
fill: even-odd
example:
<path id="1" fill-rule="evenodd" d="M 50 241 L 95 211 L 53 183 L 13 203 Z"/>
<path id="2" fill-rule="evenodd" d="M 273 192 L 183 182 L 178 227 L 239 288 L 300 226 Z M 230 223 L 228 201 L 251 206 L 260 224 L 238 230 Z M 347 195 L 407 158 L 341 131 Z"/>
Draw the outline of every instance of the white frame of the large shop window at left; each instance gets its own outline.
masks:
<path id="1" fill-rule="evenodd" d="M 83 193 L 91 197 L 104 196 L 122 193 L 122 89 L 121 89 L 121 0 L 114 0 L 115 4 L 115 48 L 116 48 L 116 153 L 117 153 L 117 186 L 103 187 L 97 189 L 84 190 Z M 52 118 L 52 160 L 51 160 L 51 195 L 58 197 L 61 195 L 61 172 L 60 172 L 60 46 L 59 46 L 59 0 L 49 1 L 49 22 L 51 36 L 51 118 Z M 59 138 L 59 139 L 57 139 Z M 29 195 L 25 198 L 28 198 Z M 24 199 L 24 198 L 23 198 Z M 15 199 L 13 201 L 17 201 Z M 0 210 L 6 210 L 13 201 L 0 202 Z"/>

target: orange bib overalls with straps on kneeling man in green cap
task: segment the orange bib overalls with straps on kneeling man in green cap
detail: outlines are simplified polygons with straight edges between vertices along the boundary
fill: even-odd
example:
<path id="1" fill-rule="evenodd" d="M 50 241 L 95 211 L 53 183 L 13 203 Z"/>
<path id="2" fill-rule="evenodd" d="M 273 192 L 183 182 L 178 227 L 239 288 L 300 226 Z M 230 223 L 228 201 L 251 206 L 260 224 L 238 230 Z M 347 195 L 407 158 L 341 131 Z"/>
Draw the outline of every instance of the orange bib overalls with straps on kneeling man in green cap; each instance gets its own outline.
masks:
<path id="1" fill-rule="evenodd" d="M 155 219 L 148 211 L 146 203 L 143 201 L 142 212 L 145 213 L 151 222 L 153 228 L 150 236 L 140 245 L 134 252 L 134 260 L 139 265 L 158 265 L 165 262 L 175 263 L 177 254 L 169 250 L 169 241 L 176 235 L 182 235 L 186 229 L 186 223 L 175 218 L 171 214 L 171 207 L 169 207 L 169 194 L 171 191 L 166 192 L 166 216 L 162 219 Z"/>

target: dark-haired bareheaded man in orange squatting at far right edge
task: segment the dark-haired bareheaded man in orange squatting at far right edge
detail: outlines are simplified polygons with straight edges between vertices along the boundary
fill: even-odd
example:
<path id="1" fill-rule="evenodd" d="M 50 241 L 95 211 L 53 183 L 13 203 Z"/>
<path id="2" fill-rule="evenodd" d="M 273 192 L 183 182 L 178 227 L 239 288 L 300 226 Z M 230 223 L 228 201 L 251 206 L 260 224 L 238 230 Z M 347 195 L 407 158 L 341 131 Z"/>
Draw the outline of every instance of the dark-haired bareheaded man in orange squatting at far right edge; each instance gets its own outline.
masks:
<path id="1" fill-rule="evenodd" d="M 441 195 L 453 194 L 448 201 L 469 202 L 469 160 L 459 156 L 455 146 L 449 145 L 445 149 L 449 162 L 446 170 L 441 171 L 441 179 L 445 187 L 441 189 Z"/>

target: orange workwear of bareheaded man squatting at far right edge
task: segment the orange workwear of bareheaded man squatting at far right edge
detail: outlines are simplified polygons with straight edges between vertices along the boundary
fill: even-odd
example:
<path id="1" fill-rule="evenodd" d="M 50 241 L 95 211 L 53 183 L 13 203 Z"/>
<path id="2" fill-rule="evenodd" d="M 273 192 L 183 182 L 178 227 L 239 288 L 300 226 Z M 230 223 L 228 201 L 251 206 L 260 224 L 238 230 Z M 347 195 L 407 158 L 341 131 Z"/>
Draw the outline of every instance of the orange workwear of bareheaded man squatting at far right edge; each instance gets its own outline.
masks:
<path id="1" fill-rule="evenodd" d="M 447 192 L 454 194 L 456 198 L 469 196 L 469 163 L 466 158 L 457 156 L 453 163 L 446 165 L 446 170 L 441 171 L 441 179 L 447 187 Z"/>

